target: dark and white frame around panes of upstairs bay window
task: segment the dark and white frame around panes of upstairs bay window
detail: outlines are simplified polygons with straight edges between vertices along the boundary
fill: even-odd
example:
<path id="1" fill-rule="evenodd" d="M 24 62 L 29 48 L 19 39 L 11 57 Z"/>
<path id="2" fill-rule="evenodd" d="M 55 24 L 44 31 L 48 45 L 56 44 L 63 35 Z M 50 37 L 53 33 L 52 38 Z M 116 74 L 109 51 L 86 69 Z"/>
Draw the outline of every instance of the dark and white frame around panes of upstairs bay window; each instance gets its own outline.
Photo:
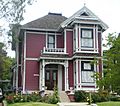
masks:
<path id="1" fill-rule="evenodd" d="M 84 37 L 83 36 L 83 31 L 91 31 L 91 38 L 90 37 Z M 92 46 L 82 45 L 82 40 L 92 40 Z M 81 28 L 81 47 L 82 48 L 93 48 L 94 47 L 93 29 Z"/>

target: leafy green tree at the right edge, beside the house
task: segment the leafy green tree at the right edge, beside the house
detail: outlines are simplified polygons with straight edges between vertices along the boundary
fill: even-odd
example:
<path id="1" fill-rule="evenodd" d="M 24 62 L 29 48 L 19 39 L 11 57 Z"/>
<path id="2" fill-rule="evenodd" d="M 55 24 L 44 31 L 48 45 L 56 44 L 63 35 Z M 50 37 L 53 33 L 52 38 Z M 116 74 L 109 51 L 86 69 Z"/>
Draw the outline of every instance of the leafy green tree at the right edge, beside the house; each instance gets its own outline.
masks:
<path id="1" fill-rule="evenodd" d="M 116 91 L 120 88 L 120 34 L 109 34 L 104 46 L 109 49 L 104 51 L 104 77 L 99 83 L 109 91 Z"/>

